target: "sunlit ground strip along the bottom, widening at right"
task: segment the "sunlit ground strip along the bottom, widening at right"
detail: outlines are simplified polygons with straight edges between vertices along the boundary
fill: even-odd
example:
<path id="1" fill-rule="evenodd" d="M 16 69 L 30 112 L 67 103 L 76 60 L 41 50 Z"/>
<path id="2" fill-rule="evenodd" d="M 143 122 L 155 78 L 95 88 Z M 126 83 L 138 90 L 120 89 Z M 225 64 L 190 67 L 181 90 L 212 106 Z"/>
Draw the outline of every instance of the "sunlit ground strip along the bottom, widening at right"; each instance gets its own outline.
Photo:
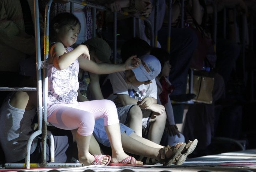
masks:
<path id="1" fill-rule="evenodd" d="M 21 171 L 22 170 L 22 171 Z M 143 167 L 110 167 L 86 166 L 78 168 L 36 168 L 36 169 L 5 169 L 13 172 L 256 172 L 256 149 L 227 152 L 187 159 L 181 166 L 144 165 Z"/>

